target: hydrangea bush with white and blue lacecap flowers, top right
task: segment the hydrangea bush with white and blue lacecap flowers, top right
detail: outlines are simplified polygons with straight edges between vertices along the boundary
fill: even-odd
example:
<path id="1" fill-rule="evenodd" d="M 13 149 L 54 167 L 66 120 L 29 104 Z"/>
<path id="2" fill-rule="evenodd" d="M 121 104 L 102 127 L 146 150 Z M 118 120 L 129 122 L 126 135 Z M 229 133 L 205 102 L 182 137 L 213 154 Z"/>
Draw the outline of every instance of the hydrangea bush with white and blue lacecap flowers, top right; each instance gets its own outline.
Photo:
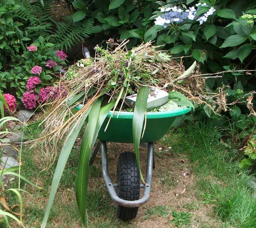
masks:
<path id="1" fill-rule="evenodd" d="M 157 39 L 174 56 L 188 55 L 203 71 L 223 70 L 234 62 L 247 65 L 256 43 L 256 3 L 244 1 L 158 1 L 151 20 L 154 26 L 144 40 Z M 189 4 L 186 4 L 189 3 Z M 245 61 L 248 58 L 248 61 Z M 186 58 L 186 62 L 191 58 Z M 247 63 L 246 63 L 247 62 Z M 191 62 L 190 62 L 191 63 Z"/>

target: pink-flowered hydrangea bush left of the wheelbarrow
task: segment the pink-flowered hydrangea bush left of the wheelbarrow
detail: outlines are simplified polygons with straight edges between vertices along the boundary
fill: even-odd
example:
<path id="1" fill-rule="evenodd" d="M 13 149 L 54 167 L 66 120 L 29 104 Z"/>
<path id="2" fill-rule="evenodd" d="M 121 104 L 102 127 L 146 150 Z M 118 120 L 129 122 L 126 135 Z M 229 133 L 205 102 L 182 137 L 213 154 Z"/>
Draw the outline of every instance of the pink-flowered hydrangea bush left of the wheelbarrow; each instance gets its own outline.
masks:
<path id="1" fill-rule="evenodd" d="M 22 55 L 17 55 L 18 64 L 11 64 L 11 70 L 0 72 L 0 90 L 15 92 L 22 99 L 26 90 L 32 91 L 35 85 L 44 87 L 54 82 L 55 73 L 66 65 L 66 58 L 63 51 L 56 50 L 52 43 L 39 36 L 38 40 L 26 47 Z"/>

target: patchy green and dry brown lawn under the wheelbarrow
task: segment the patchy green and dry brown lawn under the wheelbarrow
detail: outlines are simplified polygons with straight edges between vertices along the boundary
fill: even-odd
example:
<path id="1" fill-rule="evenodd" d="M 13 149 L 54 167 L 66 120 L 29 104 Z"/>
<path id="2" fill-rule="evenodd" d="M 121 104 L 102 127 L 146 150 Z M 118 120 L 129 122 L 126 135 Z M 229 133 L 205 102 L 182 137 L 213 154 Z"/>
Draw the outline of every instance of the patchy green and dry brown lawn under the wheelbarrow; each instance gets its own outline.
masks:
<path id="1" fill-rule="evenodd" d="M 31 139 L 38 137 L 42 130 L 38 123 L 26 129 Z M 231 162 L 237 152 L 221 137 L 221 131 L 211 125 L 189 123 L 170 130 L 157 142 L 151 198 L 130 222 L 116 219 L 115 205 L 104 187 L 101 159 L 97 157 L 90 168 L 87 227 L 256 228 L 256 199 L 248 187 L 248 176 Z M 49 217 L 49 228 L 81 227 L 74 192 L 80 142 L 78 139 L 75 143 L 67 162 Z M 108 148 L 109 173 L 115 180 L 118 155 L 133 151 L 133 145 L 109 143 Z M 55 153 L 58 151 L 52 151 L 51 156 Z M 140 157 L 145 173 L 146 148 L 141 147 Z M 23 189 L 31 193 L 31 196 L 22 193 L 24 224 L 28 228 L 40 227 L 44 216 L 56 165 L 45 169 L 45 158 L 42 145 L 32 149 L 26 145 L 23 149 L 23 176 L 43 187 L 36 190 L 23 183 Z M 9 203 L 17 204 L 17 199 L 10 197 Z M 12 225 L 17 227 L 14 222 Z"/>

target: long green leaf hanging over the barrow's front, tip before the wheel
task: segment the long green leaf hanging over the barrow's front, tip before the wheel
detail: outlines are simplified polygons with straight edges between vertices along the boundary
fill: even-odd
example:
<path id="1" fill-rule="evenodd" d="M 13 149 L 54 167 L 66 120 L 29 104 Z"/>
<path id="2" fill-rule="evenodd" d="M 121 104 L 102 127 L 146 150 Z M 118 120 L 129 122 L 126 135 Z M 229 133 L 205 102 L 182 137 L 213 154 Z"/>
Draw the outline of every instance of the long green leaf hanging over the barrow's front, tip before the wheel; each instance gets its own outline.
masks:
<path id="1" fill-rule="evenodd" d="M 136 103 L 134 107 L 134 115 L 132 119 L 132 136 L 134 142 L 134 150 L 136 154 L 137 165 L 140 171 L 140 177 L 144 181 L 142 172 L 140 169 L 140 154 L 139 154 L 139 147 L 140 147 L 140 137 L 142 134 L 143 129 L 143 122 L 145 117 L 145 111 L 147 109 L 147 100 L 148 100 L 148 87 L 142 87 L 138 91 Z"/>

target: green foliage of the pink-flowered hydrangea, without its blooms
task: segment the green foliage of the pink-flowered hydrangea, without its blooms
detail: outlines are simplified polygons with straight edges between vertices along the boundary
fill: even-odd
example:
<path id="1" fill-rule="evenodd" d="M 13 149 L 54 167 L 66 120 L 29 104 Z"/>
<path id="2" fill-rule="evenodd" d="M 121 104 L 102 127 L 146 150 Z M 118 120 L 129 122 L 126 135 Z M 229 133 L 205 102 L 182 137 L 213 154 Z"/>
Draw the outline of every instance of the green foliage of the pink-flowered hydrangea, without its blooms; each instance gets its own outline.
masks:
<path id="1" fill-rule="evenodd" d="M 12 68 L 9 71 L 0 72 L 2 81 L 0 89 L 15 91 L 20 99 L 26 91 L 26 82 L 29 77 L 39 73 L 37 75 L 40 76 L 42 85 L 46 85 L 52 80 L 52 74 L 65 65 L 65 62 L 56 56 L 54 44 L 47 42 L 44 37 L 39 36 L 31 46 L 35 46 L 36 51 L 27 49 L 22 55 L 16 55 L 17 63 L 11 63 Z M 49 65 L 49 61 L 52 61 L 53 65 Z M 33 71 L 35 66 L 39 66 L 41 72 Z"/>

